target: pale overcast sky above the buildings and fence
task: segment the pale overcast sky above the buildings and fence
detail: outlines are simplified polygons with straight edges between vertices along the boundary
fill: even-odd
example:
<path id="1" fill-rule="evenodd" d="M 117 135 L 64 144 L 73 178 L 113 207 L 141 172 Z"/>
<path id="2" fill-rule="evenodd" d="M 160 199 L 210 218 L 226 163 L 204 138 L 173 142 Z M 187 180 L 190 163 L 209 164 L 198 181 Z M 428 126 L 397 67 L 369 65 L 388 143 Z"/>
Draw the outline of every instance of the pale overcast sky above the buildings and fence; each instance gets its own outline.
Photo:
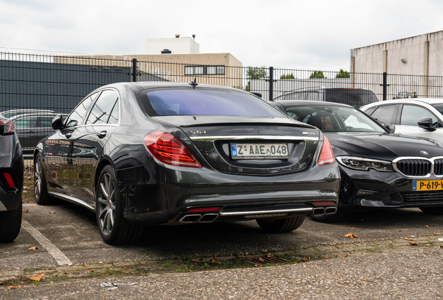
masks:
<path id="1" fill-rule="evenodd" d="M 349 70 L 350 49 L 442 31 L 442 15 L 438 0 L 0 0 L 0 47 L 130 56 L 194 34 L 244 66 Z"/>

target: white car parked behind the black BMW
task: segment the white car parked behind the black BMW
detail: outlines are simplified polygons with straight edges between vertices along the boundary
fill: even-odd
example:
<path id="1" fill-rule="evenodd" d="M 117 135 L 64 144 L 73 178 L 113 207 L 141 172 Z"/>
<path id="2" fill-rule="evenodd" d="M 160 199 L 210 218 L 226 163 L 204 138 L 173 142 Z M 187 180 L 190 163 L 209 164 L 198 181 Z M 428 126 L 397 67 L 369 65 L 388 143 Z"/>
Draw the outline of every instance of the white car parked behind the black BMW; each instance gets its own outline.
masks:
<path id="1" fill-rule="evenodd" d="M 395 125 L 395 133 L 443 142 L 442 98 L 379 101 L 360 110 L 384 124 Z"/>

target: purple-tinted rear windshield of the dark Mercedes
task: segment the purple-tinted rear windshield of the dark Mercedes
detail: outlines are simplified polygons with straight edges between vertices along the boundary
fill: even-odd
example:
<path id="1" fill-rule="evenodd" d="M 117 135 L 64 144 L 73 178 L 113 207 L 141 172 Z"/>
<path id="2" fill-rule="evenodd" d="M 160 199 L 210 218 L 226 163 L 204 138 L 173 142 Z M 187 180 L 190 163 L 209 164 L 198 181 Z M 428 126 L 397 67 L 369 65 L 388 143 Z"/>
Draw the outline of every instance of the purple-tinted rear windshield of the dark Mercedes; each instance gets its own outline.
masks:
<path id="1" fill-rule="evenodd" d="M 265 101 L 242 92 L 178 89 L 147 92 L 141 102 L 150 116 L 157 115 L 238 115 L 281 117 Z"/>

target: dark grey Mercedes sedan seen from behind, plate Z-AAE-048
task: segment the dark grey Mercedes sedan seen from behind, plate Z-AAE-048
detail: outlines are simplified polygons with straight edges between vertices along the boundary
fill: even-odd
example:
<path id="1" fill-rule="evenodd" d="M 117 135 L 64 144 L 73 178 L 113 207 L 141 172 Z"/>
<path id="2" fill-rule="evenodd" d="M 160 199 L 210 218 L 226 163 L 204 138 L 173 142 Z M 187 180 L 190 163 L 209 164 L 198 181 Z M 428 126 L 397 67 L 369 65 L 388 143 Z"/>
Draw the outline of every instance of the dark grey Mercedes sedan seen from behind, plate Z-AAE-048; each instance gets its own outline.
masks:
<path id="1" fill-rule="evenodd" d="M 39 204 L 93 210 L 104 242 L 143 226 L 256 220 L 270 232 L 335 213 L 327 139 L 258 97 L 189 83 L 116 83 L 88 94 L 34 152 Z"/>

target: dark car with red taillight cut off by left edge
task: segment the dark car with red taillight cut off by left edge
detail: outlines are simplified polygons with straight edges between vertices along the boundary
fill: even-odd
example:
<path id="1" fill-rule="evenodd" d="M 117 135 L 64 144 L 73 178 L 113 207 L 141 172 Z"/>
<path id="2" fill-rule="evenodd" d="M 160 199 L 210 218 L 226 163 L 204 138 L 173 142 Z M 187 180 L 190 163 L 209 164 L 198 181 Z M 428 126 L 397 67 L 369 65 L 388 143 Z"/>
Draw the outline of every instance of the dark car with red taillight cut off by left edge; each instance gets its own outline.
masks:
<path id="1" fill-rule="evenodd" d="M 10 242 L 20 233 L 23 168 L 14 124 L 0 115 L 0 242 Z"/>

